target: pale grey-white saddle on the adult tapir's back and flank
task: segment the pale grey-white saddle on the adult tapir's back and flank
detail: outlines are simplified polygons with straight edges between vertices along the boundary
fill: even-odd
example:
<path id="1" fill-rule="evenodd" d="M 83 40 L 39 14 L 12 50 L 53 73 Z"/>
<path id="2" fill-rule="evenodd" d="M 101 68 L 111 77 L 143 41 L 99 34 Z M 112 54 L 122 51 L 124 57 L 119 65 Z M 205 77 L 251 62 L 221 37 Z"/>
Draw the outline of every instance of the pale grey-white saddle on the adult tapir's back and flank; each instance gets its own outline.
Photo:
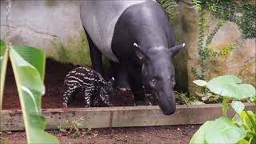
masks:
<path id="1" fill-rule="evenodd" d="M 98 49 L 112 61 L 118 62 L 111 50 L 114 26 L 118 18 L 127 7 L 142 2 L 148 2 L 148 0 L 87 0 L 82 2 L 82 25 Z"/>

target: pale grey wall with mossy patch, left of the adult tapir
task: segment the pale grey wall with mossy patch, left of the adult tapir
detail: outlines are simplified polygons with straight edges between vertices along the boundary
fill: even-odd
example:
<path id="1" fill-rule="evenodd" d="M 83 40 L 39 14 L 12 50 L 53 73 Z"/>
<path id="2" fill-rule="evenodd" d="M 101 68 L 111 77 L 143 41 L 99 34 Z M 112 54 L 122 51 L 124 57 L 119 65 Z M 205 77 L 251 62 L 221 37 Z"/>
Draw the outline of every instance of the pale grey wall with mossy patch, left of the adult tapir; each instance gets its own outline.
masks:
<path id="1" fill-rule="evenodd" d="M 48 58 L 73 64 L 90 64 L 80 1 L 12 1 L 10 42 L 36 46 Z M 1 38 L 6 39 L 6 2 L 1 1 Z"/>

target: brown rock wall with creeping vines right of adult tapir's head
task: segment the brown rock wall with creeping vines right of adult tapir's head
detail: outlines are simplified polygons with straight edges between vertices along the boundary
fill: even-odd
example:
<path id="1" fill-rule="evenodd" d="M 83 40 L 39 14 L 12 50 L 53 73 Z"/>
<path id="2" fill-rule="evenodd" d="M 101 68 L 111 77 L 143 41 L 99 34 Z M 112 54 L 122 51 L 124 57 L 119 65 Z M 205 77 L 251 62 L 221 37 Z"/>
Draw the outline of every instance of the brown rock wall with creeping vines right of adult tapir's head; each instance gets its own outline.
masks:
<path id="1" fill-rule="evenodd" d="M 209 27 L 206 28 L 205 34 L 210 34 L 218 24 L 218 19 L 212 18 L 206 14 L 209 21 Z M 198 37 L 199 37 L 199 16 L 194 11 L 191 0 L 179 1 L 179 14 L 174 18 L 175 37 L 179 41 L 186 42 L 186 52 L 180 54 L 180 58 L 186 58 L 186 66 L 179 66 L 181 70 L 187 70 L 187 86 L 190 94 L 197 91 L 193 81 L 196 75 L 192 68 L 200 67 L 198 54 Z M 224 74 L 234 74 L 243 79 L 243 82 L 256 86 L 255 79 L 255 38 L 242 38 L 242 31 L 234 22 L 226 22 L 214 35 L 209 45 L 210 50 L 223 51 L 227 47 L 234 46 L 233 50 L 226 51 L 225 54 L 216 57 L 207 58 L 205 61 L 205 78 L 210 80 Z M 180 61 L 180 59 L 178 59 Z M 182 60 L 184 61 L 184 60 Z"/>

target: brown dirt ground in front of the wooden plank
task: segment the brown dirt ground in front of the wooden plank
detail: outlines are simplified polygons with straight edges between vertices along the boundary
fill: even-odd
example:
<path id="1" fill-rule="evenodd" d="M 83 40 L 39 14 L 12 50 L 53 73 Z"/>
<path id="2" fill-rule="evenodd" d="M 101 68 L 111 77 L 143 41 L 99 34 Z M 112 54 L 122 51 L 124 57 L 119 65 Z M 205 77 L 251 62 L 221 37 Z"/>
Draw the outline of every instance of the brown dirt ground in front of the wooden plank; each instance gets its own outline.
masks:
<path id="1" fill-rule="evenodd" d="M 57 136 L 60 143 L 93 143 L 93 144 L 114 144 L 114 143 L 171 143 L 187 144 L 196 130 L 198 125 L 188 126 L 148 126 L 148 127 L 128 127 L 112 129 L 95 129 L 92 130 L 94 136 L 83 135 L 72 138 L 70 135 L 64 135 L 57 130 L 50 131 Z M 10 133 L 10 132 L 8 132 Z M 0 136 L 6 144 L 26 143 L 25 132 L 2 132 Z"/>

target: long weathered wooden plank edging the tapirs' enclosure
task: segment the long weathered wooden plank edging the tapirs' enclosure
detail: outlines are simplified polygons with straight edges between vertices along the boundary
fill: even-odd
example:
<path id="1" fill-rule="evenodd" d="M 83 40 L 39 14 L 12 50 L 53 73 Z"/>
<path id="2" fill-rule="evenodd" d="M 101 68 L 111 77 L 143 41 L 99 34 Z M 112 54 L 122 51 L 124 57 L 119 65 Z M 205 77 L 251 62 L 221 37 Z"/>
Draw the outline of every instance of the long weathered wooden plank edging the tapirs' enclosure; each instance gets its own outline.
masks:
<path id="1" fill-rule="evenodd" d="M 253 110 L 252 103 L 246 103 L 246 110 Z M 127 126 L 168 126 L 202 124 L 222 116 L 220 104 L 199 106 L 177 106 L 173 115 L 164 115 L 158 106 L 124 106 L 102 108 L 44 109 L 46 130 L 67 126 L 67 121 L 79 121 L 82 128 L 127 127 Z M 229 110 L 229 116 L 234 113 Z M 1 111 L 1 130 L 24 130 L 21 110 Z"/>

